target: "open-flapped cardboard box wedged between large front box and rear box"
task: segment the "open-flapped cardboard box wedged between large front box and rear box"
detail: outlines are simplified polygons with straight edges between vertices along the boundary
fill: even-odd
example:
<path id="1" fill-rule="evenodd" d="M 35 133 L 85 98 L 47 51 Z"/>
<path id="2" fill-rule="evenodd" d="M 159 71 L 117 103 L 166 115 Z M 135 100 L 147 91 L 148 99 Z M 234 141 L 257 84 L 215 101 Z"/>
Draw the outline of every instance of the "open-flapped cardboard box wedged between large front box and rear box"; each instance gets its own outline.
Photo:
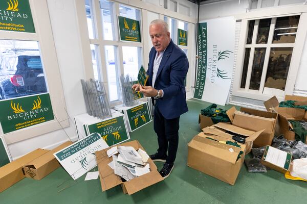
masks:
<path id="1" fill-rule="evenodd" d="M 246 144 L 245 154 L 247 155 L 252 150 L 253 142 L 255 141 L 255 139 L 257 139 L 257 137 L 264 130 L 254 132 L 254 131 L 249 131 L 249 130 L 243 129 L 242 127 L 238 127 L 238 126 L 226 123 L 226 122 L 219 122 L 213 126 L 206 127 L 202 131 L 205 134 L 221 136 L 221 137 L 227 138 L 228 140 L 232 139 L 232 136 L 234 134 L 238 134 L 238 135 L 242 135 L 246 137 L 245 138 L 245 144 Z M 230 134 L 226 132 L 229 132 Z"/>

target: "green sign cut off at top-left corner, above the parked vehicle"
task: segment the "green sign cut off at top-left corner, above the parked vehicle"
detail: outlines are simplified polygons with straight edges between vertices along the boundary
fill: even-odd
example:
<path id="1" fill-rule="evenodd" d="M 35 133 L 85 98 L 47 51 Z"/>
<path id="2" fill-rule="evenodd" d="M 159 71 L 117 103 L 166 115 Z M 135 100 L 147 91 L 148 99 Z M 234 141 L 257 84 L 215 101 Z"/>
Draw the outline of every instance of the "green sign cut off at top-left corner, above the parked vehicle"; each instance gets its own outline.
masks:
<path id="1" fill-rule="evenodd" d="M 29 0 L 0 1 L 0 30 L 35 33 Z"/>

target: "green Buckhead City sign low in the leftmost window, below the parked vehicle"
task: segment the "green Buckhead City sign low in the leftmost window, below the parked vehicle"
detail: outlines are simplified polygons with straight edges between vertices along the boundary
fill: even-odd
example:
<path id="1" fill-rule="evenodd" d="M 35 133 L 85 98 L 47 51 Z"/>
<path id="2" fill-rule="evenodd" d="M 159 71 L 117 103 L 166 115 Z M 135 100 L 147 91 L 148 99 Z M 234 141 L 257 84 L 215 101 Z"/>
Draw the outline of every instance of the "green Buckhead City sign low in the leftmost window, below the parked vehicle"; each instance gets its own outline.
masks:
<path id="1" fill-rule="evenodd" d="M 53 120 L 49 93 L 0 101 L 4 133 Z"/>

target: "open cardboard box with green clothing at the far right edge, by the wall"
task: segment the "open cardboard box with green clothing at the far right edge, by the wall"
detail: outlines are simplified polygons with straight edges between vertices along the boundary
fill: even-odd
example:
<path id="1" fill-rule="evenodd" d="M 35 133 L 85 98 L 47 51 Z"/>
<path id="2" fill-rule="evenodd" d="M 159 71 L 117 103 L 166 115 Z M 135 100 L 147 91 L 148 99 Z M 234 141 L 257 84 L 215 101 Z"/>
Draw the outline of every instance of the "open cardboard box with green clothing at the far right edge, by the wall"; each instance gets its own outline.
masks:
<path id="1" fill-rule="evenodd" d="M 290 96 L 286 95 L 285 100 L 298 100 L 298 105 L 304 105 L 307 97 L 302 96 Z M 304 109 L 297 108 L 286 108 L 286 107 L 278 107 L 279 102 L 276 96 L 273 96 L 269 100 L 265 101 L 265 107 L 270 112 L 278 113 L 278 121 L 276 123 L 276 134 L 282 134 L 287 140 L 295 140 L 295 133 L 292 130 L 291 124 L 289 124 L 288 120 L 306 120 L 307 114 Z M 306 104 L 307 105 L 307 101 Z M 305 143 L 307 144 L 307 138 Z"/>

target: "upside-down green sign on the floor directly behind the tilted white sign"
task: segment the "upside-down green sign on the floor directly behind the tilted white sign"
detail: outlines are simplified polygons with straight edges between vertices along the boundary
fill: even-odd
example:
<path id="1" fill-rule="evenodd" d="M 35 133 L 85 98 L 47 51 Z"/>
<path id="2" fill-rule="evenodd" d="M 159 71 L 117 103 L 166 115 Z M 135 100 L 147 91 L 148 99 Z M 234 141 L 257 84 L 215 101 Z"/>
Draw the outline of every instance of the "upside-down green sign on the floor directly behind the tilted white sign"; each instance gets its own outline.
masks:
<path id="1" fill-rule="evenodd" d="M 130 139 L 123 116 L 87 125 L 89 133 L 99 133 L 107 145 L 112 146 Z"/>

